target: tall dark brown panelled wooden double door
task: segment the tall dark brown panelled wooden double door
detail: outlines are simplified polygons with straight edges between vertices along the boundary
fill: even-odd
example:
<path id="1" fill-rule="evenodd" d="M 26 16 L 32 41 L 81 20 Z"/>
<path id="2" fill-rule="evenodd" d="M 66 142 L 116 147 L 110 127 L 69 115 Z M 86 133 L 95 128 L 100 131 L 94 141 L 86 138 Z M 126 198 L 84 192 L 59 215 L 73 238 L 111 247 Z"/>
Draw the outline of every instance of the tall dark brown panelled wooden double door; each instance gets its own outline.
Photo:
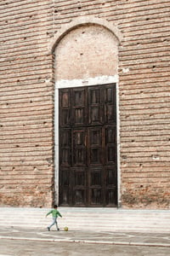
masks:
<path id="1" fill-rule="evenodd" d="M 116 84 L 61 89 L 59 205 L 116 204 Z"/>

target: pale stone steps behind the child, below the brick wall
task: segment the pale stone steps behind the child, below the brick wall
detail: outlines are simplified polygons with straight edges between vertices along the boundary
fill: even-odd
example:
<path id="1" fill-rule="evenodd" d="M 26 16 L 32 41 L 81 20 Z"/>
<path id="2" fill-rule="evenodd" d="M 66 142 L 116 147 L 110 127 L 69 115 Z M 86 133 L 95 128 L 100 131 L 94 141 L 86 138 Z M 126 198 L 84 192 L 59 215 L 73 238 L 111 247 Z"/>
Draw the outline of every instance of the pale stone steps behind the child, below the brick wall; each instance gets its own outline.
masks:
<path id="1" fill-rule="evenodd" d="M 46 229 L 48 208 L 0 207 L 0 227 Z M 116 208 L 59 207 L 59 228 L 111 232 L 170 233 L 170 210 L 126 210 Z M 54 228 L 53 228 L 54 229 Z"/>

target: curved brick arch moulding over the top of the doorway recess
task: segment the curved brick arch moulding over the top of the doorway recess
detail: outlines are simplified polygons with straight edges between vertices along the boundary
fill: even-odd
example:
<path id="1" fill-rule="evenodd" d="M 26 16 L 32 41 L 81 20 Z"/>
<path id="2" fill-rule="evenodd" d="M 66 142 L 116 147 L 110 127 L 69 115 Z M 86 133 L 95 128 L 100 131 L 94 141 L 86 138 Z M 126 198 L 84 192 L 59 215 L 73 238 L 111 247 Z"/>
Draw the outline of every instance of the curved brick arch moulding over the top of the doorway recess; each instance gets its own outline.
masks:
<path id="1" fill-rule="evenodd" d="M 48 53 L 52 54 L 54 52 L 55 47 L 59 44 L 59 41 L 65 37 L 68 32 L 74 30 L 78 26 L 87 26 L 87 25 L 98 25 L 103 26 L 105 29 L 111 31 L 116 39 L 118 44 L 122 41 L 122 33 L 118 30 L 116 26 L 108 22 L 104 19 L 99 18 L 88 18 L 88 17 L 80 17 L 75 20 L 72 20 L 70 23 L 63 25 L 59 31 L 54 35 L 54 38 L 48 44 Z"/>

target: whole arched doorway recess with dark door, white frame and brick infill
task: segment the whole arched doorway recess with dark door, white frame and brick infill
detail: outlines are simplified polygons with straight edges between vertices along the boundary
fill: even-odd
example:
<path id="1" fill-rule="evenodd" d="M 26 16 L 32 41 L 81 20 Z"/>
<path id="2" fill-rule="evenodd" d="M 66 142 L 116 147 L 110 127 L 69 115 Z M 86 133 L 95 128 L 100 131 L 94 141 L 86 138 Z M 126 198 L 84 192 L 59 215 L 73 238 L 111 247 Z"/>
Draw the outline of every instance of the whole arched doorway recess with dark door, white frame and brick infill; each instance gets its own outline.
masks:
<path id="1" fill-rule="evenodd" d="M 116 207 L 116 36 L 99 24 L 55 48 L 55 190 L 65 207 Z"/>

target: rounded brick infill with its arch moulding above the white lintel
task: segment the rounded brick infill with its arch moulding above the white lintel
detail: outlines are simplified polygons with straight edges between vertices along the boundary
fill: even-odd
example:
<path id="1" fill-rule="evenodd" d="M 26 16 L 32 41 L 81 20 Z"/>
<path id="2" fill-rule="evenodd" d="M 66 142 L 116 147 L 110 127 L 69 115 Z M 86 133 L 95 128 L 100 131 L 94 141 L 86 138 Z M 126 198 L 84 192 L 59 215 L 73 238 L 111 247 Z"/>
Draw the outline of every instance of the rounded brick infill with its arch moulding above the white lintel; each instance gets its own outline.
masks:
<path id="1" fill-rule="evenodd" d="M 100 19 L 63 27 L 51 42 L 55 81 L 117 76 L 120 39 L 116 27 Z"/>

